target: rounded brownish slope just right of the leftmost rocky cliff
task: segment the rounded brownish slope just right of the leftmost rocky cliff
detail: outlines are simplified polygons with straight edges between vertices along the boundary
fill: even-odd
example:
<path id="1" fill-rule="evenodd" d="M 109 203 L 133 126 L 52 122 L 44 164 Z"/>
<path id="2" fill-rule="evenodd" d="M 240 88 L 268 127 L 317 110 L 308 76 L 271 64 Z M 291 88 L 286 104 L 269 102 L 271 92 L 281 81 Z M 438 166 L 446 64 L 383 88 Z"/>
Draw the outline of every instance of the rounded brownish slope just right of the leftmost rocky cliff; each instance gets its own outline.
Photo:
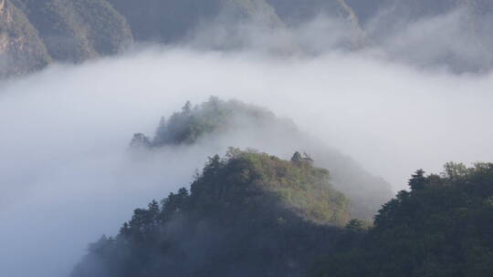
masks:
<path id="1" fill-rule="evenodd" d="M 56 60 L 80 62 L 131 42 L 125 19 L 106 0 L 16 0 Z"/>

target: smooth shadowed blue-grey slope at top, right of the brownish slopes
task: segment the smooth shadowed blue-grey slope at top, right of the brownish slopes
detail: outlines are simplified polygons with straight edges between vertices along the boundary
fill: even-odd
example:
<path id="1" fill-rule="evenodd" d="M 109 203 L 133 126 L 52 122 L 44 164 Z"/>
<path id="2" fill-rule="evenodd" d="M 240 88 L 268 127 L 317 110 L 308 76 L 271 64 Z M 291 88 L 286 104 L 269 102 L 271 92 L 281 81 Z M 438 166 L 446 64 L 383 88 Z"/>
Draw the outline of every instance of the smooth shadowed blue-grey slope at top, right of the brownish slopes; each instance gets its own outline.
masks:
<path id="1" fill-rule="evenodd" d="M 130 23 L 139 41 L 181 42 L 196 28 L 220 17 L 225 26 L 240 21 L 280 26 L 273 9 L 264 0 L 110 0 Z"/>

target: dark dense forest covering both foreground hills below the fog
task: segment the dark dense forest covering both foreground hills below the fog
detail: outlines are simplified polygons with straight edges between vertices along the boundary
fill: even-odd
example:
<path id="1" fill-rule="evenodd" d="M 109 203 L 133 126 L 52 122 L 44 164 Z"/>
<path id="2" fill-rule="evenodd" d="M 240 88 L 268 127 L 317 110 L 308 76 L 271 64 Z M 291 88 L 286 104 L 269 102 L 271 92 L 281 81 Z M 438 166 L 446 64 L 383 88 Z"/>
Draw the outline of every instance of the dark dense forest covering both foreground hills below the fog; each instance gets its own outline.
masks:
<path id="1" fill-rule="evenodd" d="M 229 149 L 190 192 L 92 243 L 72 276 L 491 276 L 493 164 L 417 170 L 372 224 L 350 221 L 328 177 L 299 152 Z"/>

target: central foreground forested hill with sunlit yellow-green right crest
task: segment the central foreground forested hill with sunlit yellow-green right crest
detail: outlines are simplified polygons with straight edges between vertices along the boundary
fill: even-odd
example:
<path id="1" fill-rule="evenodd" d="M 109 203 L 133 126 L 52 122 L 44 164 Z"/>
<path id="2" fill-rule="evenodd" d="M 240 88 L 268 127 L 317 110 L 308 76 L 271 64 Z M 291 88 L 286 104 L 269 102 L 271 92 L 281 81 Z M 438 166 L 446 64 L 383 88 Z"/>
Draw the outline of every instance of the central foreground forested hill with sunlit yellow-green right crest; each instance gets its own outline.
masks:
<path id="1" fill-rule="evenodd" d="M 349 219 L 328 171 L 311 162 L 299 153 L 216 155 L 190 193 L 152 201 L 116 238 L 92 244 L 72 277 L 301 276 Z"/>

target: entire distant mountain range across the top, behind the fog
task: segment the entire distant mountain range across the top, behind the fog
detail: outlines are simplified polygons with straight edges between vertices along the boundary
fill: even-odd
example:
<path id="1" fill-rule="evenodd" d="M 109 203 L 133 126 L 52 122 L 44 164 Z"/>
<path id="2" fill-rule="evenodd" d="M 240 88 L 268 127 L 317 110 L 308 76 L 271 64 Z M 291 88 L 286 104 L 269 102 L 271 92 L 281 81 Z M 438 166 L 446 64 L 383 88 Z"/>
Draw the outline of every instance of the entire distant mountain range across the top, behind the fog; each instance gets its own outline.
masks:
<path id="1" fill-rule="evenodd" d="M 335 38 L 328 33 L 331 43 L 322 43 L 317 51 L 324 53 L 334 46 L 376 46 L 393 59 L 417 65 L 447 65 L 459 72 L 493 66 L 489 53 L 493 46 L 489 27 L 493 4 L 488 0 L 0 1 L 5 5 L 0 14 L 0 73 L 4 76 L 35 71 L 52 59 L 80 62 L 111 55 L 128 45 L 132 36 L 139 42 L 191 43 L 219 49 L 260 46 L 274 53 L 292 54 L 311 53 L 310 39 L 323 42 L 323 32 L 334 30 L 335 38 L 342 41 L 334 44 Z M 461 14 L 457 20 L 442 18 L 458 10 Z M 10 15 L 8 23 L 6 15 Z M 290 33 L 289 27 L 298 31 L 297 27 L 317 15 L 329 15 L 337 23 L 328 29 L 315 29 L 317 33 L 310 36 Z M 421 21 L 431 18 L 436 19 L 432 20 L 434 25 L 419 29 Z M 242 26 L 246 23 L 254 25 Z M 408 29 L 413 24 L 417 30 Z M 433 39 L 438 36 L 443 43 L 435 45 Z M 454 43 L 457 36 L 461 39 Z M 415 50 L 425 44 L 432 46 L 426 45 L 426 51 Z"/>

